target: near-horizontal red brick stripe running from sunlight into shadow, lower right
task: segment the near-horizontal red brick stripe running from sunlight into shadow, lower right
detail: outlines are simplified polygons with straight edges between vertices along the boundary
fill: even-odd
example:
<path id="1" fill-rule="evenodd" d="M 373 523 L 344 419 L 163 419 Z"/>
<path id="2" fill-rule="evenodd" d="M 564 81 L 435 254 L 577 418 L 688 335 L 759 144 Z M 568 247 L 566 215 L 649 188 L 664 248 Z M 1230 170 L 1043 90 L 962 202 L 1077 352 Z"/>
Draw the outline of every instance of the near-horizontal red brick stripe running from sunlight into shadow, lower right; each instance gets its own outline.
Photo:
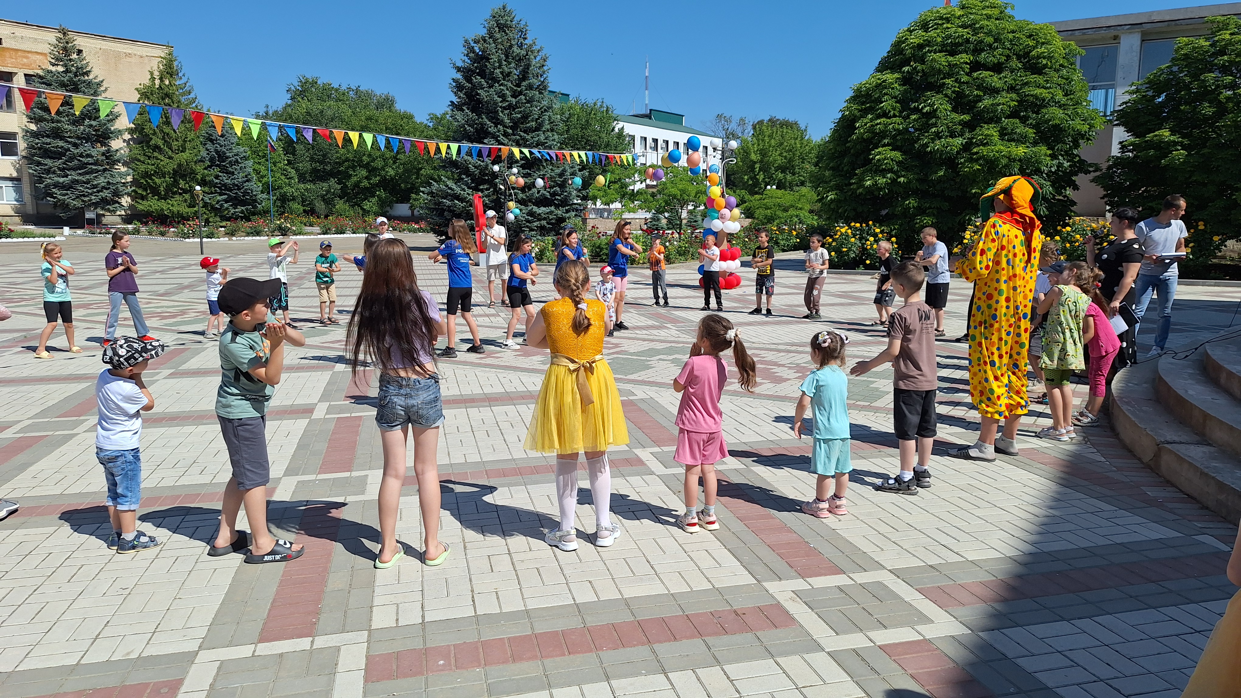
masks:
<path id="1" fill-rule="evenodd" d="M 961 606 L 1019 601 L 1037 596 L 1057 596 L 1060 594 L 1114 589 L 1129 584 L 1216 577 L 1225 573 L 1227 560 L 1229 553 L 1205 553 L 1201 555 L 1143 563 L 1111 564 L 1025 577 L 1005 577 L 985 581 L 920 586 L 918 591 L 934 601 L 941 609 L 958 609 Z"/>

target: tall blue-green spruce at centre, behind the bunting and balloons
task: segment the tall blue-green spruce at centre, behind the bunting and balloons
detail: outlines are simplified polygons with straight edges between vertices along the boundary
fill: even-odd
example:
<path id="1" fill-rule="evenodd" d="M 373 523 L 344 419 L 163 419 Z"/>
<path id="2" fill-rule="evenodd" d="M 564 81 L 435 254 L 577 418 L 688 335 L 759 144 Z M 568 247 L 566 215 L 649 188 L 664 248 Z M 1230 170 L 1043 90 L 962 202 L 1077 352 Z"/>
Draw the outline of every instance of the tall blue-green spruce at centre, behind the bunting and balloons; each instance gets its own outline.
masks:
<path id="1" fill-rule="evenodd" d="M 558 149 L 558 118 L 549 95 L 547 55 L 530 38 L 529 27 L 508 5 L 491 10 L 483 22 L 483 33 L 467 37 L 464 56 L 453 63 L 453 100 L 448 105 L 448 124 L 454 141 Z M 491 170 L 500 165 L 500 172 Z M 581 190 L 570 182 L 587 172 L 571 162 L 521 159 L 513 155 L 504 162 L 458 152 L 441 162 L 447 176 L 433 180 L 422 190 L 421 211 L 444 234 L 453 218 L 473 218 L 473 195 L 483 195 L 484 206 L 504 211 L 508 196 L 500 187 L 505 169 L 516 166 L 525 187 L 513 190 L 521 214 L 506 223 L 511 233 L 549 236 L 571 218 L 581 216 Z M 549 182 L 535 187 L 535 179 Z M 583 177 L 585 179 L 585 177 Z M 583 182 L 583 187 L 588 182 Z"/>

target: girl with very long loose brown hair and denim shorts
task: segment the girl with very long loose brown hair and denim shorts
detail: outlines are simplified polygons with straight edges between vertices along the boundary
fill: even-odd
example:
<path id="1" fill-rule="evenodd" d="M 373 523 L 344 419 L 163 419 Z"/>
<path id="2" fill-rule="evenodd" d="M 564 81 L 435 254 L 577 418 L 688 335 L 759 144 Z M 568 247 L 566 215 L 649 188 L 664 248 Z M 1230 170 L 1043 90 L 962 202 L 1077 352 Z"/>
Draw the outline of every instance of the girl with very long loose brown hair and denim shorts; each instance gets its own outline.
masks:
<path id="1" fill-rule="evenodd" d="M 345 346 L 351 366 L 369 362 L 380 372 L 379 409 L 375 423 L 383 445 L 383 479 L 380 482 L 380 549 L 375 567 L 386 569 L 405 555 L 396 539 L 396 522 L 405 486 L 406 439 L 413 430 L 413 471 L 418 479 L 422 510 L 422 562 L 439 565 L 448 546 L 439 542 L 439 469 L 436 448 L 444 422 L 439 374 L 433 350 L 444 334 L 439 306 L 418 289 L 410 248 L 397 238 L 375 243 L 367 254 L 362 288 L 349 317 Z"/>

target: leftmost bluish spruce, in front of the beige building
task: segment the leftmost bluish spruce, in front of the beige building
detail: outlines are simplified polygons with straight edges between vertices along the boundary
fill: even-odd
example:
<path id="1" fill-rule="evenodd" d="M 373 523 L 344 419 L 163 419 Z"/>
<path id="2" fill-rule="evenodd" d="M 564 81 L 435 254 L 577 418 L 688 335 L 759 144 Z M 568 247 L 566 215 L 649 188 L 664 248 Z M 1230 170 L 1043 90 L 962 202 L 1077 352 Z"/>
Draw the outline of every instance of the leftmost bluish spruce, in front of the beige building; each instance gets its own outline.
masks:
<path id="1" fill-rule="evenodd" d="M 57 30 L 47 63 L 47 68 L 36 73 L 40 88 L 103 97 L 103 81 L 78 56 L 69 30 Z M 86 208 L 110 212 L 123 207 L 129 172 L 122 167 L 122 152 L 113 145 L 122 136 L 115 123 L 115 113 L 99 118 L 94 99 L 74 114 L 72 98 L 66 98 L 52 114 L 47 99 L 41 97 L 26 115 L 22 128 L 26 167 L 40 196 L 52 202 L 62 218 Z"/>

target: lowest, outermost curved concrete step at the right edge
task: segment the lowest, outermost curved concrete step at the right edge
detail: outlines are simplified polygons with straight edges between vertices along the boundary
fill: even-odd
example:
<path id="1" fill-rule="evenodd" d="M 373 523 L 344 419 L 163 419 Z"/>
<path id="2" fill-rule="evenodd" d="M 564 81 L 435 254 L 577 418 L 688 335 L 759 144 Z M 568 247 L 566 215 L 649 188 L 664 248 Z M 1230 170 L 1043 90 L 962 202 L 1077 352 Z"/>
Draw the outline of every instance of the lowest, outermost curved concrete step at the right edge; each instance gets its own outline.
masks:
<path id="1" fill-rule="evenodd" d="M 1109 412 L 1117 436 L 1180 491 L 1237 523 L 1241 521 L 1241 459 L 1173 417 L 1173 408 L 1155 394 L 1158 374 L 1159 363 L 1145 362 L 1116 376 Z"/>

